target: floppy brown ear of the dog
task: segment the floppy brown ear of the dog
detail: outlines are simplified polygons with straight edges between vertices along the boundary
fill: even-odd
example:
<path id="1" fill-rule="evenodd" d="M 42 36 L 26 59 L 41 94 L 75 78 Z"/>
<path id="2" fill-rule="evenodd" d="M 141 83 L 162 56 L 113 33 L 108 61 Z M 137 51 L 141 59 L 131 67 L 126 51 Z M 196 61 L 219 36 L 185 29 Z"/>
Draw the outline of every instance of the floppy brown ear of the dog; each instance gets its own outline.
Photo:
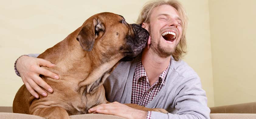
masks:
<path id="1" fill-rule="evenodd" d="M 85 51 L 92 51 L 95 39 L 98 38 L 99 35 L 102 36 L 104 32 L 104 24 L 99 19 L 93 18 L 92 21 L 85 22 L 85 25 L 81 28 L 76 39 Z"/>

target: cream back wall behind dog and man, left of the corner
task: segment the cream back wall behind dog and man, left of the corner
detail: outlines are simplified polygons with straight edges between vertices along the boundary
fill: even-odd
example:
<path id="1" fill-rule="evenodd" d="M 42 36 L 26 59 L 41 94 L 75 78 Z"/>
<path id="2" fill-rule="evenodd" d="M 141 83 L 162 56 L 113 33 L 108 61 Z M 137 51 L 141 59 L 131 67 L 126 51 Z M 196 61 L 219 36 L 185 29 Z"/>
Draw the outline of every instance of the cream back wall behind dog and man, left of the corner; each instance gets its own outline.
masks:
<path id="1" fill-rule="evenodd" d="M 0 4 L 0 106 L 12 106 L 23 84 L 13 63 L 20 55 L 42 53 L 64 39 L 91 15 L 114 12 L 134 23 L 147 0 L 4 1 Z M 185 61 L 199 74 L 208 106 L 214 106 L 208 0 L 181 0 L 189 16 Z"/>

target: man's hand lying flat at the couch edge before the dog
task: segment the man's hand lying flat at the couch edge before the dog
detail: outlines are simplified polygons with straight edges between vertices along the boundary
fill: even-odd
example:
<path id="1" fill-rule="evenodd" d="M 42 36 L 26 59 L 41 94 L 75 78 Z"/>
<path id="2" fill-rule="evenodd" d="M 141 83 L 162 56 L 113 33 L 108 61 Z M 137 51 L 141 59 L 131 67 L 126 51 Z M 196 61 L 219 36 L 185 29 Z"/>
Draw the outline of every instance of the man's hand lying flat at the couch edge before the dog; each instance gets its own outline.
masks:
<path id="1" fill-rule="evenodd" d="M 96 107 L 89 109 L 89 113 L 101 113 L 101 114 L 111 114 L 119 117 L 124 117 L 127 119 L 146 119 L 147 112 L 137 110 L 131 107 L 121 104 L 119 102 L 112 102 L 108 104 L 100 104 Z"/>

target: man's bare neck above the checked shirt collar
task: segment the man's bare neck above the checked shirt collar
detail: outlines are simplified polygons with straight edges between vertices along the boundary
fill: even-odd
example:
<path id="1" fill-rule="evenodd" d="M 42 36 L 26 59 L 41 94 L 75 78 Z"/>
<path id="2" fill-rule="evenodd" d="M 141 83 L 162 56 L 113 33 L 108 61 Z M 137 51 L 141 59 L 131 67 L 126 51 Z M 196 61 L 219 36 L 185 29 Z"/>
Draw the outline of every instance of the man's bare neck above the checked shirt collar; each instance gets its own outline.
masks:
<path id="1" fill-rule="evenodd" d="M 171 56 L 161 58 L 154 51 L 152 51 L 152 49 L 144 49 L 141 56 L 141 62 L 147 73 L 150 86 L 152 86 L 158 80 L 162 72 L 168 67 L 170 60 Z"/>

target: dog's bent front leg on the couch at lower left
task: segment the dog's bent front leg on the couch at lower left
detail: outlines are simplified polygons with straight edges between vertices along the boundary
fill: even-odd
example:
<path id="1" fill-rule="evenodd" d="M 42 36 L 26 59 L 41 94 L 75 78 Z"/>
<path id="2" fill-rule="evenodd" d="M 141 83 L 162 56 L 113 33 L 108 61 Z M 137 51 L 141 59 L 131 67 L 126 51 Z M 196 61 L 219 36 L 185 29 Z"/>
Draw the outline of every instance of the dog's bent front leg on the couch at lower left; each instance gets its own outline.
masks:
<path id="1" fill-rule="evenodd" d="M 62 107 L 44 107 L 33 112 L 33 115 L 47 119 L 70 119 L 67 111 Z"/>

